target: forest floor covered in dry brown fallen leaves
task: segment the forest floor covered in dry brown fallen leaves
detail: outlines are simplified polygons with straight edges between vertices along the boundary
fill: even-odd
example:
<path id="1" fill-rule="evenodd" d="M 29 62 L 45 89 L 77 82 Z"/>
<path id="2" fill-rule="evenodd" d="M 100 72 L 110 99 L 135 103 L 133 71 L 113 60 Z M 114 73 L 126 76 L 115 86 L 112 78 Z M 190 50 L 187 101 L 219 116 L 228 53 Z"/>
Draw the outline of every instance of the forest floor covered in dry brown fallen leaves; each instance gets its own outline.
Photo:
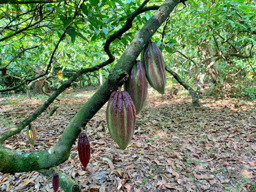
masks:
<path id="1" fill-rule="evenodd" d="M 33 148 L 26 130 L 7 139 L 6 147 L 20 151 L 43 150 L 58 141 L 76 112 L 97 87 L 62 93 L 59 108 L 52 106 L 36 121 Z M 79 162 L 77 143 L 58 169 L 83 191 L 256 191 L 256 103 L 243 99 L 202 96 L 201 107 L 180 91 L 160 95 L 149 89 L 145 107 L 137 116 L 131 145 L 118 148 L 106 125 L 106 105 L 86 125 L 91 160 Z M 46 100 L 22 95 L 0 98 L 0 133 L 11 129 Z M 53 191 L 51 180 L 32 171 L 0 173 L 0 191 Z M 61 191 L 59 189 L 59 191 Z"/>

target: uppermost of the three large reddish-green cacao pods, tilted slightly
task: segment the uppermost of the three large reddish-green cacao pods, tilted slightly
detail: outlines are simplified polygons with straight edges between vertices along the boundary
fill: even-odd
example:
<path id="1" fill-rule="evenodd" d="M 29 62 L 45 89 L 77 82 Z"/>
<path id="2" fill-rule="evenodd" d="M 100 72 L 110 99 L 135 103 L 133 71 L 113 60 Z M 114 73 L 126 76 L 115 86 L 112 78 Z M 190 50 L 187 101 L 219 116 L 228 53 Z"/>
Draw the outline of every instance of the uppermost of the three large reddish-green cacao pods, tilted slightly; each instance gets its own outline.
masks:
<path id="1" fill-rule="evenodd" d="M 143 48 L 141 61 L 146 70 L 148 83 L 156 91 L 164 94 L 166 83 L 164 58 L 155 42 L 149 41 Z"/>

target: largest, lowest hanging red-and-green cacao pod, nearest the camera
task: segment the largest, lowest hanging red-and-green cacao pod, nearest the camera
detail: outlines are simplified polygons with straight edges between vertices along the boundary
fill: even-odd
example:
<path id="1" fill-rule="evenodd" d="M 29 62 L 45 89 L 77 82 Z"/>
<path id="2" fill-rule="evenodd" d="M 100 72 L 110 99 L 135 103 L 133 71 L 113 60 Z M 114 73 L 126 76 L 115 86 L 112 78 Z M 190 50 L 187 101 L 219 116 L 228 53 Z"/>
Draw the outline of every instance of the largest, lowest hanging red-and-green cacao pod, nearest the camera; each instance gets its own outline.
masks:
<path id="1" fill-rule="evenodd" d="M 107 105 L 107 125 L 111 138 L 119 148 L 125 149 L 132 140 L 136 124 L 136 111 L 127 91 L 114 91 Z"/>

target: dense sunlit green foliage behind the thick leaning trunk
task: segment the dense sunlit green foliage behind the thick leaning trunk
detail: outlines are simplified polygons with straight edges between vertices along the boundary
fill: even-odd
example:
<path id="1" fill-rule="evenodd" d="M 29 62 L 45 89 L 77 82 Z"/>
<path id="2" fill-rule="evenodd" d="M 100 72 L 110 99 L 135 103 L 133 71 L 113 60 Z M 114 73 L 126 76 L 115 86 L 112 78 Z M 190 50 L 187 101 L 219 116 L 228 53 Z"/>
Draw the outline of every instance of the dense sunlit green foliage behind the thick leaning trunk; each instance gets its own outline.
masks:
<path id="1" fill-rule="evenodd" d="M 0 69 L 7 69 L 0 78 L 2 94 L 25 92 L 21 83 L 28 85 L 39 74 L 55 90 L 79 69 L 106 61 L 104 46 L 110 42 L 118 59 L 162 1 L 149 2 L 151 10 L 135 17 L 132 27 L 117 38 L 113 34 L 142 1 L 27 2 L 1 5 Z M 166 65 L 186 83 L 197 84 L 199 75 L 210 94 L 255 99 L 255 14 L 255 1 L 191 0 L 175 8 L 153 41 Z M 100 74 L 106 79 L 114 65 L 80 76 L 73 86 L 100 83 Z M 60 70 L 63 78 L 58 78 Z M 169 80 L 172 84 L 171 75 Z"/>

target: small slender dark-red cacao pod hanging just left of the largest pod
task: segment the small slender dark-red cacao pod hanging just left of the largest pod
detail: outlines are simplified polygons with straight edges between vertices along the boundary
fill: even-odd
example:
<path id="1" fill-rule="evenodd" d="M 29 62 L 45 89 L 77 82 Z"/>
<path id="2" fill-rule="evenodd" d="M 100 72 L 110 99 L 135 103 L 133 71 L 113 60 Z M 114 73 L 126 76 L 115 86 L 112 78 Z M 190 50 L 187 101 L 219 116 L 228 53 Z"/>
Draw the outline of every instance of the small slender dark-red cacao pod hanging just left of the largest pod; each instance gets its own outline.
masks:
<path id="1" fill-rule="evenodd" d="M 90 142 L 87 139 L 87 135 L 85 133 L 79 134 L 77 148 L 78 148 L 79 160 L 85 169 L 90 161 L 90 156 L 91 156 Z"/>

